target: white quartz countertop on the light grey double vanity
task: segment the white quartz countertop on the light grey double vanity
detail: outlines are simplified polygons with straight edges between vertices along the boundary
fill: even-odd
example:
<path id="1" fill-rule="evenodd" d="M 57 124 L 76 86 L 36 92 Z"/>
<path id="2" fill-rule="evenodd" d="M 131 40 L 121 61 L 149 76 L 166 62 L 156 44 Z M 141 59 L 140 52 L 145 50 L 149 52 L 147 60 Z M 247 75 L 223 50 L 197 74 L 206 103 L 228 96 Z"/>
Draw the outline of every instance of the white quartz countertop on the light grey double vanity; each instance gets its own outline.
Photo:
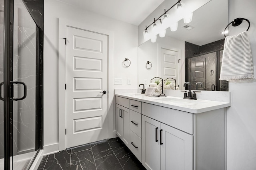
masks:
<path id="1" fill-rule="evenodd" d="M 180 111 L 186 111 L 189 113 L 202 113 L 215 109 L 231 106 L 230 102 L 216 102 L 211 100 L 189 100 L 179 97 L 148 97 L 144 94 L 115 94 L 116 96 L 128 98 L 148 104 L 154 104 L 157 106 L 168 107 Z"/>

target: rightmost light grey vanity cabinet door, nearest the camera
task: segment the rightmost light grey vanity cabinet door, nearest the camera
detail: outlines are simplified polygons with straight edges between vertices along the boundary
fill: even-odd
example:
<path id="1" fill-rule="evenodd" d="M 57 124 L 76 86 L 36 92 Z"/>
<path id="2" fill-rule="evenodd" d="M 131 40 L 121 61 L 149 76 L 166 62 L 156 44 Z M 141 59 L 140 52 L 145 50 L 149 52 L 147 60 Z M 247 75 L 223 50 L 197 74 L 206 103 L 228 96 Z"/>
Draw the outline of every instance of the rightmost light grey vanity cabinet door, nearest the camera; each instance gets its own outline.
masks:
<path id="1" fill-rule="evenodd" d="M 161 170 L 192 170 L 192 135 L 163 123 L 161 129 Z"/>

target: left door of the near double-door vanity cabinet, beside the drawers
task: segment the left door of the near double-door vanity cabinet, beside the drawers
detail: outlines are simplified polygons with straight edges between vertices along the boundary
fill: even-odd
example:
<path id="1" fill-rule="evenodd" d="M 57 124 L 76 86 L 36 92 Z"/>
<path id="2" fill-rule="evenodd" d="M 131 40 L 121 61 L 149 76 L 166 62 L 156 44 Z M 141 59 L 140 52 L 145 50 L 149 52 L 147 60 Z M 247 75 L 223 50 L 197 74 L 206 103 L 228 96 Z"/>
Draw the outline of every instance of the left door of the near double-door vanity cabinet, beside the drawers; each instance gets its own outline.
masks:
<path id="1" fill-rule="evenodd" d="M 160 170 L 160 122 L 142 115 L 142 164 L 147 170 Z"/>

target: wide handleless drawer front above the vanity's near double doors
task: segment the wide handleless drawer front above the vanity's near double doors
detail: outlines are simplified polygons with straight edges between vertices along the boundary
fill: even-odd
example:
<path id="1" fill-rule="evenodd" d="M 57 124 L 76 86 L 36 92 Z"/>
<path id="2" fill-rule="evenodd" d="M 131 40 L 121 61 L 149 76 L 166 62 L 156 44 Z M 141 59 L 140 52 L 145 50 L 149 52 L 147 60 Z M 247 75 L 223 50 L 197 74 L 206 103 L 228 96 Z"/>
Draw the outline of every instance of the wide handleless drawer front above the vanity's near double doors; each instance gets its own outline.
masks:
<path id="1" fill-rule="evenodd" d="M 194 119 L 192 113 L 142 103 L 142 114 L 181 131 L 193 134 Z"/>

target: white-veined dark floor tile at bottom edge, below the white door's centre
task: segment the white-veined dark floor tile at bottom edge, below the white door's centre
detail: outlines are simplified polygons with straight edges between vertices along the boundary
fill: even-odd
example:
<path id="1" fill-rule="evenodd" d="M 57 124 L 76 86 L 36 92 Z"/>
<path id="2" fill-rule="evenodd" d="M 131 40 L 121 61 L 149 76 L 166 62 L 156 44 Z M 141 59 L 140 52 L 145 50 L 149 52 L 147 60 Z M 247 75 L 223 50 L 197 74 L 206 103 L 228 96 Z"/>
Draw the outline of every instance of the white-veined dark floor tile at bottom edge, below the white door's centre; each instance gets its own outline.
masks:
<path id="1" fill-rule="evenodd" d="M 92 150 L 82 150 L 71 154 L 70 170 L 96 170 Z"/>

